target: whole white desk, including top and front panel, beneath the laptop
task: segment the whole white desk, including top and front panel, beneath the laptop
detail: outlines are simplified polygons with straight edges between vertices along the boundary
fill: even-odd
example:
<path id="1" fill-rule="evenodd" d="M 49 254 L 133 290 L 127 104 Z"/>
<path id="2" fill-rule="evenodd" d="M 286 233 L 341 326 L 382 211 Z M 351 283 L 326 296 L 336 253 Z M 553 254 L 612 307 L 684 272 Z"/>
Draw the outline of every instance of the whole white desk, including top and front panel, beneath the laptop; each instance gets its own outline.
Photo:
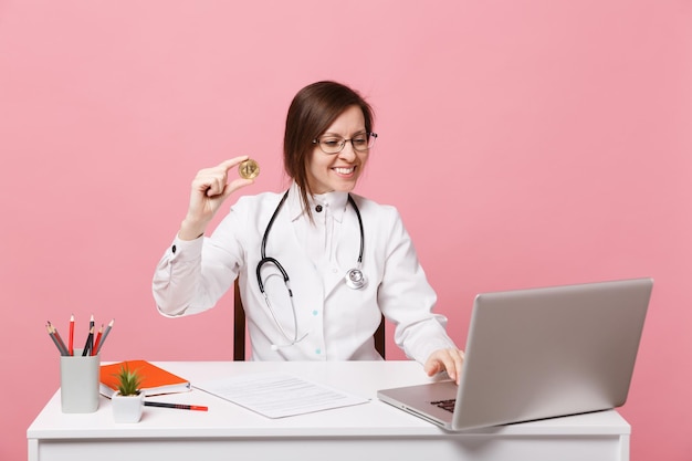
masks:
<path id="1" fill-rule="evenodd" d="M 146 407 L 140 422 L 116 425 L 108 399 L 94 413 L 64 415 L 57 391 L 27 430 L 29 460 L 629 460 L 630 426 L 617 411 L 450 433 L 379 401 L 377 389 L 430 380 L 411 362 L 156 364 L 192 384 L 285 371 L 371 401 L 269 419 L 195 389 L 155 398 L 208 412 Z"/>

